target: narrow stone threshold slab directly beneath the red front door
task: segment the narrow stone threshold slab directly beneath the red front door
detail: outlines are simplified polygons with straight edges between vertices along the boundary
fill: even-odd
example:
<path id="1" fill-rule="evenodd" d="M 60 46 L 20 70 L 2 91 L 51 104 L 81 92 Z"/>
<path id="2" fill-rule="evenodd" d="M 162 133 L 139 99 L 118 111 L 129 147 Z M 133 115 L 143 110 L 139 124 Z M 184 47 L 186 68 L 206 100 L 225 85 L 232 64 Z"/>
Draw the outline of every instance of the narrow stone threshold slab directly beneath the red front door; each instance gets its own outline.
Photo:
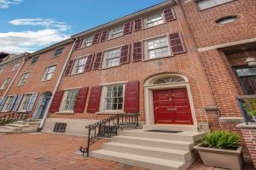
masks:
<path id="1" fill-rule="evenodd" d="M 193 125 L 173 125 L 173 126 L 172 125 L 143 125 L 143 129 L 198 132 L 197 126 L 193 126 Z"/>

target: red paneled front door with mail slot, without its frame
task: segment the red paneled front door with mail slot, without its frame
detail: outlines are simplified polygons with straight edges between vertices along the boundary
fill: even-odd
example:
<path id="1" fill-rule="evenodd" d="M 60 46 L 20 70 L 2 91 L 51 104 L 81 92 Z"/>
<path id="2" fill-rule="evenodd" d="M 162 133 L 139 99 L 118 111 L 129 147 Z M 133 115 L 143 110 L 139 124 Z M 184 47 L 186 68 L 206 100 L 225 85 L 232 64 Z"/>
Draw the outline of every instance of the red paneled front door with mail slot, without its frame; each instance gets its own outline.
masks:
<path id="1" fill-rule="evenodd" d="M 154 122 L 162 124 L 193 124 L 186 88 L 153 91 Z"/>

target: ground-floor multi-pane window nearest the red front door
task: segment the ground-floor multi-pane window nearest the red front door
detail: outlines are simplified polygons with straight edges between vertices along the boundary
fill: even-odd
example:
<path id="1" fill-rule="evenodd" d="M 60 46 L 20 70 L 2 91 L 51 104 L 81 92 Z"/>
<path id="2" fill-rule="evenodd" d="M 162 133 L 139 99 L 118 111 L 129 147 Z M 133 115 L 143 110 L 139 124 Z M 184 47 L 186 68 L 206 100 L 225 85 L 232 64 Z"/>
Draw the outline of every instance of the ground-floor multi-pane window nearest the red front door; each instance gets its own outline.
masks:
<path id="1" fill-rule="evenodd" d="M 115 84 L 104 87 L 103 110 L 123 111 L 124 109 L 124 84 Z"/>

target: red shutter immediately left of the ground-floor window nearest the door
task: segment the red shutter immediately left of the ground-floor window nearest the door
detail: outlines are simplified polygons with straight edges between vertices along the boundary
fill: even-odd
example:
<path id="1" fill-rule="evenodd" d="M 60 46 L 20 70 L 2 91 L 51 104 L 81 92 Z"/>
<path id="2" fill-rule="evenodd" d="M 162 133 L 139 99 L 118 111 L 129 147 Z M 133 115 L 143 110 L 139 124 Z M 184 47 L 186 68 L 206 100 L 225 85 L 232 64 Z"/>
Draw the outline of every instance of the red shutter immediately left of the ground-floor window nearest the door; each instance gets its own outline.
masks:
<path id="1" fill-rule="evenodd" d="M 87 112 L 96 113 L 100 108 L 102 87 L 96 86 L 90 89 L 90 98 L 88 102 Z"/>

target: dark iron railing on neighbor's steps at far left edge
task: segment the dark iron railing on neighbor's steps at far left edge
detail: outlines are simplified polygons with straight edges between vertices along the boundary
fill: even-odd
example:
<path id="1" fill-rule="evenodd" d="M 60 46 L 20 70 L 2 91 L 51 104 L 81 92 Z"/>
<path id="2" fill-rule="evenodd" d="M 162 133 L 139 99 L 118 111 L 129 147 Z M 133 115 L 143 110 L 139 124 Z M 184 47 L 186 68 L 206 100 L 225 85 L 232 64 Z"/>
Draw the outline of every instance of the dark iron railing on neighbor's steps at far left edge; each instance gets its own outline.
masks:
<path id="1" fill-rule="evenodd" d="M 9 115 L 0 116 L 0 125 L 10 122 L 26 121 L 29 113 L 11 113 Z"/>

